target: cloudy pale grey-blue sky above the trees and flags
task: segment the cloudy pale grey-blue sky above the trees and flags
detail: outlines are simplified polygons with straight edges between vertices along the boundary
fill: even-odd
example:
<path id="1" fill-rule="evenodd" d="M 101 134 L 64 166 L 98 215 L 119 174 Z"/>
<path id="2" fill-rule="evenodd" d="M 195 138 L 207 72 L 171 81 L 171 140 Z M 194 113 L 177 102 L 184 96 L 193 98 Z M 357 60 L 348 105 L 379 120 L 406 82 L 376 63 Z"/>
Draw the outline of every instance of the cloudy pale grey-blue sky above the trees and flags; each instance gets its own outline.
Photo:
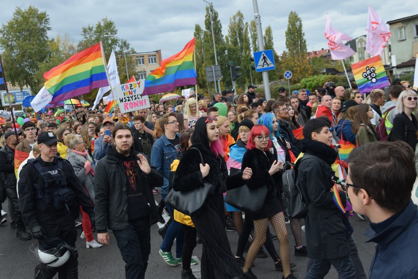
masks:
<path id="1" fill-rule="evenodd" d="M 209 0 L 208 0 L 209 1 Z M 228 34 L 230 18 L 240 10 L 245 21 L 254 19 L 252 0 L 213 0 L 219 14 L 223 35 Z M 258 0 L 263 29 L 273 29 L 274 48 L 286 49 L 285 30 L 290 11 L 302 18 L 308 51 L 326 48 L 324 28 L 326 13 L 331 15 L 333 27 L 355 38 L 366 34 L 368 4 L 380 14 L 384 22 L 416 14 L 416 0 Z M 204 25 L 203 0 L 0 0 L 0 22 L 5 24 L 13 16 L 16 6 L 26 9 L 29 4 L 46 11 L 52 30 L 50 37 L 67 33 L 74 43 L 81 39 L 81 27 L 95 25 L 107 17 L 115 22 L 117 36 L 127 39 L 135 51 L 161 49 L 162 58 L 180 51 L 193 37 L 195 24 Z"/>

